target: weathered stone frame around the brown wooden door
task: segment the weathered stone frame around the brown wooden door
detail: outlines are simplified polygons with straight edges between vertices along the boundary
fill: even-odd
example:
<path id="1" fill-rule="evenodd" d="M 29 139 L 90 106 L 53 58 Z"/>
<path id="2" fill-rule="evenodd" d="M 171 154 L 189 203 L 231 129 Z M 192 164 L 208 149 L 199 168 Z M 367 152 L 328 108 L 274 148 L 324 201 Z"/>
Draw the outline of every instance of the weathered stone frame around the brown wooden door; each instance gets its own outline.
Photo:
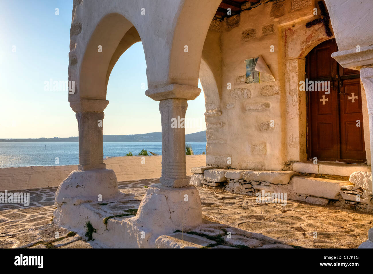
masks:
<path id="1" fill-rule="evenodd" d="M 318 44 L 335 38 L 327 37 L 322 24 L 309 29 L 306 21 L 287 22 L 280 24 L 283 36 L 283 70 L 282 79 L 285 91 L 285 149 L 286 161 L 307 161 L 307 108 L 306 94 L 299 91 L 299 82 L 304 81 L 305 57 Z M 331 24 L 329 23 L 331 28 Z M 332 30 L 333 32 L 333 30 Z M 367 164 L 370 165 L 370 133 L 366 94 L 361 84 L 361 99 L 363 103 L 363 127 Z"/>

